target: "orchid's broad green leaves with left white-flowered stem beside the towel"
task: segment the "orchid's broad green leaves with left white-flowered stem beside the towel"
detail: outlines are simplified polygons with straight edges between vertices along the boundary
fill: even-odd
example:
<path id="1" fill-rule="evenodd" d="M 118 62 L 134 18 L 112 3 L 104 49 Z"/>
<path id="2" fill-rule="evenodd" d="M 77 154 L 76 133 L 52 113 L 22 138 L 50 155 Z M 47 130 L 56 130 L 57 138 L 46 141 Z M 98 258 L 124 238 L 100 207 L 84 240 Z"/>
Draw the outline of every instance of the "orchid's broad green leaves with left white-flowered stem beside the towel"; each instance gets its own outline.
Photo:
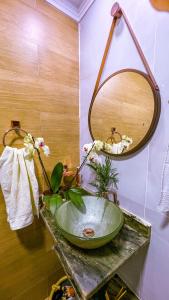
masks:
<path id="1" fill-rule="evenodd" d="M 51 177 L 49 178 L 41 158 L 41 150 L 46 156 L 50 154 L 49 147 L 45 145 L 44 139 L 42 137 L 34 138 L 31 134 L 27 134 L 24 138 L 24 146 L 28 157 L 32 158 L 35 151 L 38 154 L 43 176 L 48 186 L 48 190 L 43 192 L 42 200 L 51 213 L 54 215 L 56 209 L 63 203 L 64 200 L 71 200 L 79 209 L 83 207 L 82 196 L 87 195 L 88 193 L 84 189 L 80 188 L 77 182 L 78 173 L 83 164 L 79 169 L 77 169 L 76 174 L 72 176 L 73 174 L 65 172 L 63 164 L 58 162 L 52 171 Z M 70 180 L 65 180 L 65 183 L 67 183 L 63 184 L 63 178 L 66 175 L 70 175 Z"/>

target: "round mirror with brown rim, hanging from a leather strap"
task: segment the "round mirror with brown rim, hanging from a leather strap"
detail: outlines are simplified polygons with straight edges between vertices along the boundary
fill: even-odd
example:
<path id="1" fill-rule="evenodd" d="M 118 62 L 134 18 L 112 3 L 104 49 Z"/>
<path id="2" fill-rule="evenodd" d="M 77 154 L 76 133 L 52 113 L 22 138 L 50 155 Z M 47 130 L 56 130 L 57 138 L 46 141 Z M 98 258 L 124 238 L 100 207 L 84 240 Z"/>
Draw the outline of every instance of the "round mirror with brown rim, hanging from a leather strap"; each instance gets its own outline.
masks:
<path id="1" fill-rule="evenodd" d="M 160 114 L 160 94 L 148 75 L 125 69 L 108 77 L 89 109 L 93 140 L 107 144 L 105 152 L 129 155 L 152 136 Z"/>

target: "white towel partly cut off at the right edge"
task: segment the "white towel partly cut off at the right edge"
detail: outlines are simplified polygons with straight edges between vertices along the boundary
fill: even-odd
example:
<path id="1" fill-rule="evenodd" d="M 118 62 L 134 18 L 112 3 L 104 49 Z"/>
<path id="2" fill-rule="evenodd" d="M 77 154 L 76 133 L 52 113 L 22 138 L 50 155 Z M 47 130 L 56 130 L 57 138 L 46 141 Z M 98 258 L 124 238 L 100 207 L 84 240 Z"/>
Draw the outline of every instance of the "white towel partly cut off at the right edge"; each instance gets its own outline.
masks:
<path id="1" fill-rule="evenodd" d="M 162 212 L 169 211 L 169 147 L 163 165 L 159 210 Z"/>

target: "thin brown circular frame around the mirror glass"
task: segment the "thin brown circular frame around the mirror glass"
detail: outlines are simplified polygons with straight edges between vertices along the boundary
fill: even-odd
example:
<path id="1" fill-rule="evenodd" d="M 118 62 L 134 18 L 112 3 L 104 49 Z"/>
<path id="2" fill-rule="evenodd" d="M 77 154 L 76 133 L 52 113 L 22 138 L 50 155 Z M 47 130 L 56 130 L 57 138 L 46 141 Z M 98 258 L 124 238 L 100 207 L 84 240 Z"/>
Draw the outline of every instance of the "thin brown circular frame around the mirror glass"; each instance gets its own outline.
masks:
<path id="1" fill-rule="evenodd" d="M 152 92 L 153 92 L 153 95 L 154 95 L 154 114 L 153 114 L 153 118 L 152 118 L 152 121 L 151 121 L 151 125 L 147 131 L 147 133 L 145 134 L 145 136 L 142 138 L 142 140 L 134 147 L 132 148 L 131 150 L 127 151 L 127 152 L 124 152 L 124 153 L 121 153 L 121 154 L 110 154 L 106 151 L 102 151 L 102 153 L 106 154 L 106 155 L 109 155 L 111 157 L 114 157 L 114 158 L 122 158 L 122 157 L 126 157 L 126 156 L 130 156 L 131 154 L 134 154 L 136 152 L 138 152 L 139 150 L 141 150 L 146 144 L 147 142 L 150 140 L 150 138 L 152 137 L 156 127 L 157 127 L 157 124 L 158 124 L 158 121 L 159 121 L 159 117 L 160 117 L 160 112 L 161 112 L 161 97 L 160 97 L 160 92 L 159 92 L 159 89 L 156 89 L 154 87 L 154 84 L 150 78 L 149 75 L 147 75 L 146 73 L 142 72 L 142 71 L 139 71 L 137 69 L 121 69 L 113 74 L 111 74 L 109 77 L 107 77 L 103 82 L 102 84 L 99 86 L 98 90 L 96 91 L 96 93 L 93 94 L 93 97 L 92 97 L 92 100 L 91 100 L 91 103 L 90 103 L 90 107 L 89 107 L 89 111 L 88 111 L 88 126 L 89 126 L 89 131 L 90 131 L 90 135 L 92 137 L 92 140 L 94 141 L 94 136 L 93 136 L 93 133 L 92 133 L 92 128 L 91 128 L 91 113 L 92 113 L 92 108 L 93 108 L 93 104 L 94 104 L 94 101 L 97 97 L 97 94 L 98 92 L 100 91 L 100 89 L 102 88 L 102 86 L 109 80 L 111 79 L 112 77 L 120 74 L 120 73 L 123 73 L 123 72 L 135 72 L 135 73 L 138 73 L 140 75 L 142 75 L 149 83 L 151 89 L 152 89 Z"/>

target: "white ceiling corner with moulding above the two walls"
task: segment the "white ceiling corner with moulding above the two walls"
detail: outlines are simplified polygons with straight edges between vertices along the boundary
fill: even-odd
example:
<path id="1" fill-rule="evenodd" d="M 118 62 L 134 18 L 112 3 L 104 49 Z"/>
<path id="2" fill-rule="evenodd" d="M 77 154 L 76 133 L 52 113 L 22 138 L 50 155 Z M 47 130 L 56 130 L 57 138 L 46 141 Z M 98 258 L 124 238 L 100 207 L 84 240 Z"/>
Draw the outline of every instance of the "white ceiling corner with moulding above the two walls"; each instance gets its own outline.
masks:
<path id="1" fill-rule="evenodd" d="M 72 19 L 79 22 L 94 0 L 46 0 Z"/>

